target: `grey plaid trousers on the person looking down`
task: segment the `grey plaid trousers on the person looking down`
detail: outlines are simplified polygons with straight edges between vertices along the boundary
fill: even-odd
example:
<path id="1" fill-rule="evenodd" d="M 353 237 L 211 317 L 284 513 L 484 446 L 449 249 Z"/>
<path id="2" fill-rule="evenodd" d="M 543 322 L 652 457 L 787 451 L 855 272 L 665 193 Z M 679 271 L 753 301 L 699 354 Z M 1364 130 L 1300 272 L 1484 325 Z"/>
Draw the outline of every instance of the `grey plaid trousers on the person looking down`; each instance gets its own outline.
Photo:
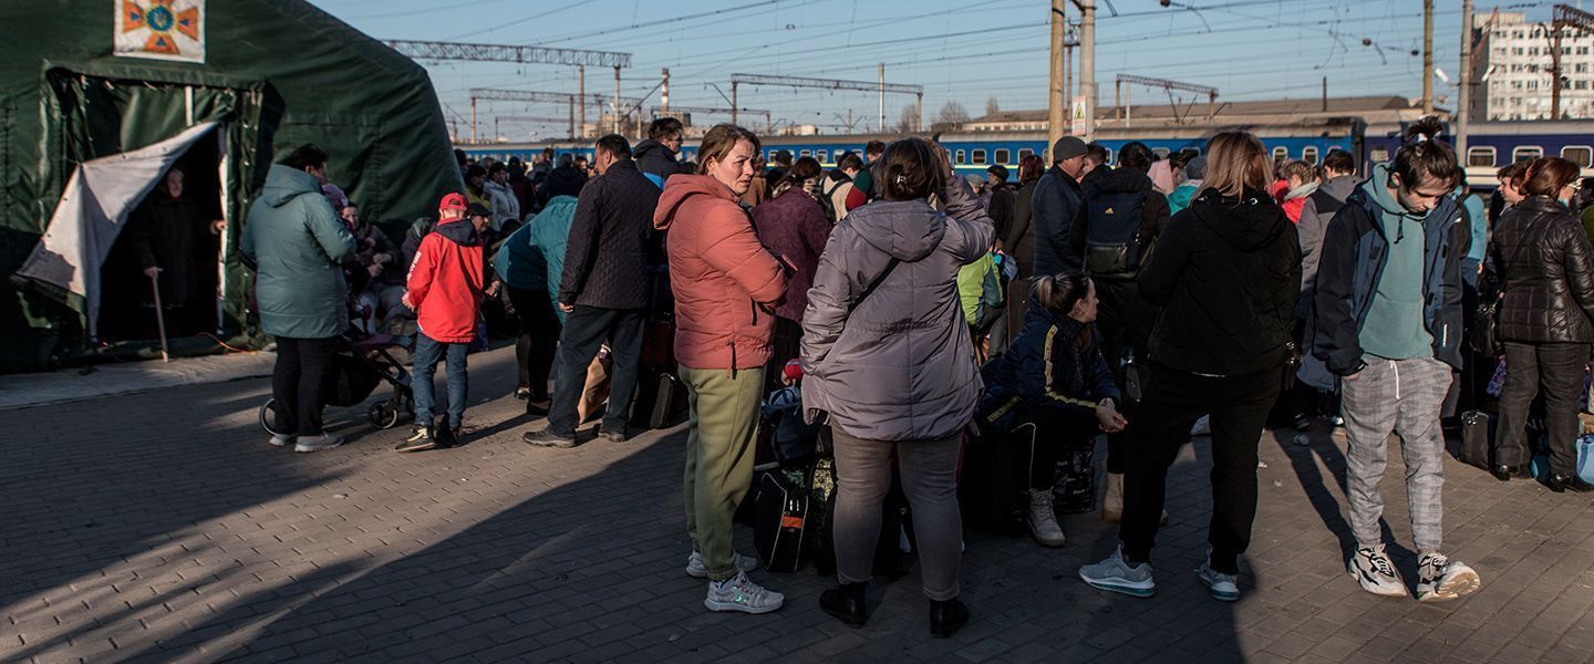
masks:
<path id="1" fill-rule="evenodd" d="M 1436 551 L 1444 538 L 1444 433 L 1439 408 L 1451 389 L 1451 365 L 1435 358 L 1368 358 L 1355 381 L 1344 381 L 1345 455 L 1350 503 L 1350 530 L 1358 546 L 1382 541 L 1379 519 L 1384 495 L 1379 482 L 1388 465 L 1387 438 L 1401 439 L 1406 462 L 1406 500 L 1411 505 L 1411 532 L 1419 551 Z"/>

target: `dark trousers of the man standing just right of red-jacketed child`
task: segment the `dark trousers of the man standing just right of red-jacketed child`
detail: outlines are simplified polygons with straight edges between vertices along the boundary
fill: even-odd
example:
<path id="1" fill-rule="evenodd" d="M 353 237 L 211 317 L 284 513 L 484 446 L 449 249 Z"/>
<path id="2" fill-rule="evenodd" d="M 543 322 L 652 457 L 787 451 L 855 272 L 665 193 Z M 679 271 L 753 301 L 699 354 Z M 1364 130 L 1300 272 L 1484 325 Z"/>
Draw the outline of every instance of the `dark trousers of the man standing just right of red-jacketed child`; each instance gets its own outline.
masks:
<path id="1" fill-rule="evenodd" d="M 609 342 L 614 368 L 609 373 L 609 408 L 604 409 L 603 428 L 623 432 L 631 396 L 636 395 L 638 361 L 642 357 L 644 309 L 599 309 L 577 306 L 564 318 L 559 334 L 558 374 L 553 379 L 553 403 L 548 408 L 548 432 L 559 436 L 575 435 L 575 404 L 587 385 L 587 366 L 598 357 L 598 349 Z"/>

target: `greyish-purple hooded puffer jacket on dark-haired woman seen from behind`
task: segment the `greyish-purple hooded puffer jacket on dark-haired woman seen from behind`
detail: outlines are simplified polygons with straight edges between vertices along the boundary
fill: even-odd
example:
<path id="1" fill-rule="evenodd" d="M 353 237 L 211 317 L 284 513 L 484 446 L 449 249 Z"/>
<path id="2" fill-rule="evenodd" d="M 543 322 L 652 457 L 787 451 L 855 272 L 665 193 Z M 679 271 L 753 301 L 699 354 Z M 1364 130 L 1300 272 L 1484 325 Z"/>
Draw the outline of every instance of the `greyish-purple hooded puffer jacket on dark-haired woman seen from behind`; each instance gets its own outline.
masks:
<path id="1" fill-rule="evenodd" d="M 875 201 L 830 234 L 802 318 L 810 422 L 829 412 L 856 438 L 917 441 L 947 438 L 972 417 L 983 385 L 958 269 L 983 256 L 996 231 L 963 178 L 942 197 L 945 213 L 926 201 Z M 891 258 L 901 263 L 864 298 Z"/>

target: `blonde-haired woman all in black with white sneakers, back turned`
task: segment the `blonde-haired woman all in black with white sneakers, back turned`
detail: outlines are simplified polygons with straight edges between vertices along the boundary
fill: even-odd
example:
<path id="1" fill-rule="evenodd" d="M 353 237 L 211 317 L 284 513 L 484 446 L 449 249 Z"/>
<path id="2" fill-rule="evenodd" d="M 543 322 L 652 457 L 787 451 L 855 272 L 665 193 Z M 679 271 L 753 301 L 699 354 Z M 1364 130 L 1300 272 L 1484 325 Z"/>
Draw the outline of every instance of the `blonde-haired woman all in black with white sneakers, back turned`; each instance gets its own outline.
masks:
<path id="1" fill-rule="evenodd" d="M 1168 223 L 1141 269 L 1140 293 L 1164 307 L 1141 369 L 1141 417 L 1130 428 L 1119 548 L 1079 568 L 1086 583 L 1151 597 L 1151 548 L 1167 473 L 1191 425 L 1211 414 L 1208 557 L 1196 573 L 1223 602 L 1240 599 L 1239 556 L 1256 521 L 1256 444 L 1298 350 L 1296 228 L 1267 194 L 1272 172 L 1254 135 L 1208 142 L 1205 188 Z"/>

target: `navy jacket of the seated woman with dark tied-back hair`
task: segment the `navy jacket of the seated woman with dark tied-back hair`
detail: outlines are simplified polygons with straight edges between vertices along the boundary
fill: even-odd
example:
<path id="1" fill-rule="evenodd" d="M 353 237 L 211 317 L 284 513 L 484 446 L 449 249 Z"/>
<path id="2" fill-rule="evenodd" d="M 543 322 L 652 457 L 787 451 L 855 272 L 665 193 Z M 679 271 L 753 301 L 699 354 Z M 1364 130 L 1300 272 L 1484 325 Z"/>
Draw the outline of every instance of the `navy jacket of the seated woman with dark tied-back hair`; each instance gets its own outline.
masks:
<path id="1" fill-rule="evenodd" d="M 998 420 L 1014 411 L 1012 406 L 1022 406 L 1095 417 L 1098 401 L 1121 401 L 1101 357 L 1101 336 L 1095 326 L 1090 326 L 1090 341 L 1079 349 L 1079 330 L 1084 325 L 1066 315 L 1055 315 L 1031 299 L 1019 338 L 985 368 L 988 379 L 979 412 L 987 420 Z"/>

